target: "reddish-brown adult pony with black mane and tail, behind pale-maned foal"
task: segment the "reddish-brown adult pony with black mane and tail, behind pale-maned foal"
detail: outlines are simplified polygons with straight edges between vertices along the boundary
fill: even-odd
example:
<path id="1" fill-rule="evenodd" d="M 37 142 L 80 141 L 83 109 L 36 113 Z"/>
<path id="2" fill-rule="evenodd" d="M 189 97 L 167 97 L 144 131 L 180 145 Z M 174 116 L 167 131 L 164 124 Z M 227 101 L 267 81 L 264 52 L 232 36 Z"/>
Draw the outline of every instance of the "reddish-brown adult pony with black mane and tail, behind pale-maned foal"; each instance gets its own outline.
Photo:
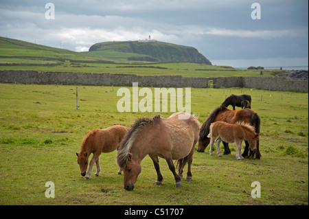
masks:
<path id="1" fill-rule="evenodd" d="M 227 107 L 221 105 L 210 113 L 204 124 L 201 126 L 200 138 L 198 139 L 198 152 L 204 152 L 205 148 L 208 146 L 210 141 L 209 137 L 207 137 L 209 134 L 209 127 L 211 123 L 216 121 L 223 121 L 229 124 L 236 124 L 236 122 L 246 122 L 251 124 L 251 126 L 254 126 L 255 132 L 260 133 L 261 121 L 258 113 L 255 113 L 255 111 L 249 108 L 231 111 Z M 249 143 L 247 141 L 244 141 L 244 143 L 246 143 L 246 147 L 244 148 L 242 157 L 255 159 L 260 159 L 262 157 L 259 149 L 260 140 L 257 141 L 257 149 L 254 152 L 251 150 L 249 152 Z M 225 146 L 225 152 L 223 154 L 231 154 L 231 150 L 229 150 L 229 144 L 223 141 L 223 145 Z"/>

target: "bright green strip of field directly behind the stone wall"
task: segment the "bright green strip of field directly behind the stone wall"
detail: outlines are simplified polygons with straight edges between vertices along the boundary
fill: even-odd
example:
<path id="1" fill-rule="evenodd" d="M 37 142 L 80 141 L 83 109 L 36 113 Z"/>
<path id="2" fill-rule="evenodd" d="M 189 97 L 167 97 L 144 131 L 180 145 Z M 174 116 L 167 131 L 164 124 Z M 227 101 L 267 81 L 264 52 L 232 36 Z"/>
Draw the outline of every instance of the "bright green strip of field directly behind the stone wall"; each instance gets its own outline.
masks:
<path id="1" fill-rule="evenodd" d="M 284 70 L 265 69 L 245 70 L 205 65 L 192 62 L 160 62 L 160 63 L 89 63 L 89 62 L 64 62 L 56 60 L 36 60 L 32 58 L 0 58 L 0 70 L 34 70 L 39 72 L 86 72 L 86 73 L 119 73 L 135 74 L 140 76 L 183 76 L 183 77 L 273 77 L 274 74 L 284 73 Z M 23 65 L 14 65 L 23 64 Z M 42 66 L 36 64 L 57 64 L 56 66 Z M 31 65 L 28 65 L 31 64 Z"/>

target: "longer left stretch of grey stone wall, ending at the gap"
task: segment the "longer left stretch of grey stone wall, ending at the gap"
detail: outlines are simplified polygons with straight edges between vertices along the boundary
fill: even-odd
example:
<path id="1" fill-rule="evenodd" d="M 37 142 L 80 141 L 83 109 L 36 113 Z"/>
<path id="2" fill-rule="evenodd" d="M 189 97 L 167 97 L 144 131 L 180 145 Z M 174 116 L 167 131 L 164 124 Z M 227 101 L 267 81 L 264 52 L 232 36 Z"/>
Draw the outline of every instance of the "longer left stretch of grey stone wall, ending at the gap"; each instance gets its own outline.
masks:
<path id="1" fill-rule="evenodd" d="M 73 73 L 38 71 L 0 71 L 1 83 L 22 84 L 76 84 L 99 86 L 132 86 L 138 82 L 141 87 L 196 87 L 208 86 L 207 78 L 184 78 L 181 76 L 135 76 L 114 73 Z"/>

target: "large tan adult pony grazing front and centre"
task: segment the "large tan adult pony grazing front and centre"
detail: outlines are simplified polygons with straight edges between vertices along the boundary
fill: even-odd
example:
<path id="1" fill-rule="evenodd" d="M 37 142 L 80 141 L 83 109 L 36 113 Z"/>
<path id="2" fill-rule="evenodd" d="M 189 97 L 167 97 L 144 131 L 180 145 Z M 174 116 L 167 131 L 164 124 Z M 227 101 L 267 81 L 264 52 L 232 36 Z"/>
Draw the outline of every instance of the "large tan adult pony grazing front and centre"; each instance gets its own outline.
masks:
<path id="1" fill-rule="evenodd" d="M 180 119 L 183 116 L 186 119 Z M 137 119 L 117 153 L 117 164 L 124 170 L 124 189 L 134 189 L 141 172 L 141 160 L 147 154 L 157 171 L 156 185 L 161 185 L 163 181 L 158 157 L 164 158 L 168 163 L 174 174 L 176 187 L 181 187 L 185 163 L 188 164 L 187 181 L 192 181 L 191 163 L 199 130 L 199 122 L 189 113 L 174 113 L 167 119 L 161 115 Z M 173 159 L 178 160 L 179 174 L 176 174 Z"/>

